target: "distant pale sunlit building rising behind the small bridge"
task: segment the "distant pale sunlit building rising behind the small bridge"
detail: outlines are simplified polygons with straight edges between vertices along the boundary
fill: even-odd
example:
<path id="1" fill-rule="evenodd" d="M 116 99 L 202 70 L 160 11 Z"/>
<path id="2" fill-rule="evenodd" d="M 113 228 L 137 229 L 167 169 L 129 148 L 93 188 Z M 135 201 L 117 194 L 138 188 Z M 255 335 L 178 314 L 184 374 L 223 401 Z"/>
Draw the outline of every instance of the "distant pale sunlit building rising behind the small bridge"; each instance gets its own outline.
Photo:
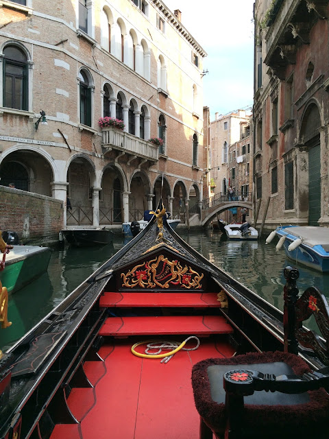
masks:
<path id="1" fill-rule="evenodd" d="M 212 195 L 226 195 L 229 185 L 234 186 L 235 181 L 229 182 L 229 148 L 230 145 L 239 141 L 242 135 L 245 135 L 241 131 L 241 123 L 249 124 L 249 116 L 245 110 L 237 110 L 224 116 L 216 113 L 215 121 L 210 123 L 210 187 L 212 187 Z"/>

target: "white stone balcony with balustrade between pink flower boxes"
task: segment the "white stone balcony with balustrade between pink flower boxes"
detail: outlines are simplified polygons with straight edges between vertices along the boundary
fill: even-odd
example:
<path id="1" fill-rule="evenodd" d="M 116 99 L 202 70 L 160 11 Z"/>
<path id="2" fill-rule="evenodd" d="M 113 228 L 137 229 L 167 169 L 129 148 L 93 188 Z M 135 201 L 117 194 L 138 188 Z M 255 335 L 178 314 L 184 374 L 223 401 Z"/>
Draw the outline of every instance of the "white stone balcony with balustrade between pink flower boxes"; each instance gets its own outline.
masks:
<path id="1" fill-rule="evenodd" d="M 154 143 L 140 139 L 112 126 L 101 128 L 101 132 L 103 137 L 101 147 L 104 155 L 113 150 L 119 153 L 118 156 L 126 154 L 128 156 L 128 164 L 135 158 L 141 158 L 140 163 L 145 163 L 146 161 L 155 163 L 158 161 L 158 145 L 154 145 Z"/>

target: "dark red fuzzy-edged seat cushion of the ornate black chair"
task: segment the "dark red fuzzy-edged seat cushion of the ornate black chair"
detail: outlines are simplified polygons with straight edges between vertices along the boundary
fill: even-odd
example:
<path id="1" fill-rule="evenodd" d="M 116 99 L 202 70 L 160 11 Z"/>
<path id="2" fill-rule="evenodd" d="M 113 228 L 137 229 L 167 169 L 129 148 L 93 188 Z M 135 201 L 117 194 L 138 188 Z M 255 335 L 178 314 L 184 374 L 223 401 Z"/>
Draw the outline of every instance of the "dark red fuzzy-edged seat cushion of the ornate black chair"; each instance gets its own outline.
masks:
<path id="1" fill-rule="evenodd" d="M 273 368 L 277 363 L 277 371 L 271 372 L 276 375 L 282 375 L 280 370 L 293 370 L 296 375 L 310 372 L 305 361 L 296 355 L 282 352 L 249 353 L 225 359 L 210 358 L 199 361 L 193 366 L 192 385 L 195 406 L 212 431 L 221 434 L 226 424 L 225 405 L 221 402 L 225 392 L 219 390 L 219 387 L 223 386 L 223 366 L 229 366 L 225 370 L 233 370 L 244 365 L 241 368 L 253 370 L 253 364 L 255 366 L 262 364 L 264 367 L 267 363 L 273 363 Z M 282 364 L 279 366 L 278 363 L 284 363 L 287 366 L 282 366 Z M 217 371 L 216 366 L 218 367 Z M 254 370 L 258 369 L 255 367 Z M 261 394 L 263 392 L 255 393 Z M 241 422 L 243 421 L 246 434 L 249 431 L 249 434 L 254 438 L 262 436 L 264 438 L 272 436 L 278 438 L 281 436 L 280 439 L 282 439 L 282 437 L 297 437 L 297 435 L 305 437 L 305 435 L 310 434 L 310 431 L 317 434 L 327 431 L 329 395 L 324 389 L 307 393 L 308 396 L 305 394 L 302 394 L 302 397 L 301 395 L 297 396 L 297 403 L 295 401 L 293 404 L 282 404 L 281 400 L 280 405 L 273 405 L 269 399 L 260 403 L 257 397 L 254 400 L 249 399 L 248 403 L 247 399 L 250 397 L 245 398 L 244 418 Z M 221 394 L 222 396 L 220 396 Z M 214 401 L 212 396 L 215 396 L 218 402 Z M 277 397 L 281 398 L 278 395 L 274 396 L 274 398 Z"/>

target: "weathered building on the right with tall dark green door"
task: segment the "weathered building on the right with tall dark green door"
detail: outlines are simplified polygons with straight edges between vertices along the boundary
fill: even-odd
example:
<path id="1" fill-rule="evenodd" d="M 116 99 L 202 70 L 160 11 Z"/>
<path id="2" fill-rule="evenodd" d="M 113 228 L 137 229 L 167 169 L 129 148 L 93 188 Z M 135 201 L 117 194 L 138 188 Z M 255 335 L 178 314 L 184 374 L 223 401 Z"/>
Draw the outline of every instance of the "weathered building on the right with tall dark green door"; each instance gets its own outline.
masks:
<path id="1" fill-rule="evenodd" d="M 256 0 L 254 19 L 258 222 L 328 226 L 328 1 Z"/>

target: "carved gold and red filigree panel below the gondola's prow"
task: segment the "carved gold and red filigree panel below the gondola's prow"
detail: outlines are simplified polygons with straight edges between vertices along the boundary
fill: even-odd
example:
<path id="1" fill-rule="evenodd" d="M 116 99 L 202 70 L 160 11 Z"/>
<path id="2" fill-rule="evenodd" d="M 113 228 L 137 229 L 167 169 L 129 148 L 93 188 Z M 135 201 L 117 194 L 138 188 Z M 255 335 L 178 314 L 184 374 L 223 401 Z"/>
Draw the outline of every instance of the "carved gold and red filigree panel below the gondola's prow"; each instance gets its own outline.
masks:
<path id="1" fill-rule="evenodd" d="M 191 267 L 180 264 L 180 261 L 169 261 L 163 254 L 135 265 L 127 273 L 121 273 L 122 286 L 128 288 L 169 288 L 201 289 L 200 281 L 204 274 L 199 274 Z"/>

